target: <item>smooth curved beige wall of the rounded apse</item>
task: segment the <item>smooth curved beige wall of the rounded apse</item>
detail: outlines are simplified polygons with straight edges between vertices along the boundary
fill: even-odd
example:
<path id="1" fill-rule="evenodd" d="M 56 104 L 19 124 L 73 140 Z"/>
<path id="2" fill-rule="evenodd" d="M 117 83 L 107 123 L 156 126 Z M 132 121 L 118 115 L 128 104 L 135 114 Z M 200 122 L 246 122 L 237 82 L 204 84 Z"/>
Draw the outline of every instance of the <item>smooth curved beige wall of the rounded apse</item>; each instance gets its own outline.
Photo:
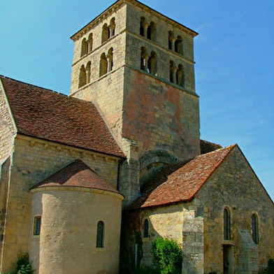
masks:
<path id="1" fill-rule="evenodd" d="M 31 228 L 42 217 L 40 236 L 30 237 L 30 259 L 39 274 L 118 274 L 122 196 L 97 189 L 33 189 Z M 96 247 L 103 222 L 103 247 Z"/>

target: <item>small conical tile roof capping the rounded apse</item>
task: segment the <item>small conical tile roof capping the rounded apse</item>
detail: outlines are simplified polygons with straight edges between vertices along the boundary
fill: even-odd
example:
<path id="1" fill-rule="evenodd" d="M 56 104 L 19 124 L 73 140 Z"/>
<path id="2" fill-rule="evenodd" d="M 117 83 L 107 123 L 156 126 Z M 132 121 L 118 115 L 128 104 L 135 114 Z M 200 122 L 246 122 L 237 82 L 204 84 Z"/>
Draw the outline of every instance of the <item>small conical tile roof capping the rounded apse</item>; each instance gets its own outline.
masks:
<path id="1" fill-rule="evenodd" d="M 73 163 L 62 168 L 49 178 L 39 182 L 34 187 L 31 187 L 31 189 L 41 187 L 84 187 L 120 194 L 117 189 L 109 185 L 108 182 L 103 180 L 99 174 L 89 168 L 89 166 L 81 160 L 73 161 Z"/>

